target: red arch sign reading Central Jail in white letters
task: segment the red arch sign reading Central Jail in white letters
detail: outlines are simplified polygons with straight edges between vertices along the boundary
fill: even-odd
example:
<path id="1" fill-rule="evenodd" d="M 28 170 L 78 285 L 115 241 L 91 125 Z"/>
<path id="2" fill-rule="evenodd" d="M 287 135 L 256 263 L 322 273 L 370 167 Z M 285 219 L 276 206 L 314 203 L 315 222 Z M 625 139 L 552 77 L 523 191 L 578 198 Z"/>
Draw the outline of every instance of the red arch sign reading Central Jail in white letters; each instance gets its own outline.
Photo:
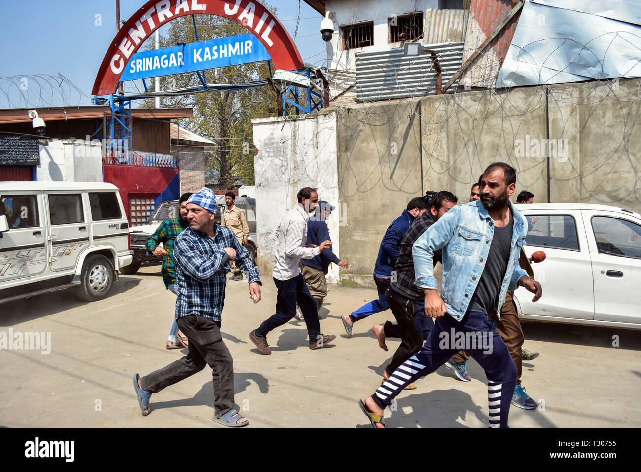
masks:
<path id="1" fill-rule="evenodd" d="M 94 82 L 94 95 L 115 92 L 131 55 L 160 26 L 187 15 L 217 15 L 242 24 L 269 51 L 276 69 L 303 69 L 303 60 L 285 26 L 265 6 L 250 0 L 151 0 L 122 26 Z"/>

